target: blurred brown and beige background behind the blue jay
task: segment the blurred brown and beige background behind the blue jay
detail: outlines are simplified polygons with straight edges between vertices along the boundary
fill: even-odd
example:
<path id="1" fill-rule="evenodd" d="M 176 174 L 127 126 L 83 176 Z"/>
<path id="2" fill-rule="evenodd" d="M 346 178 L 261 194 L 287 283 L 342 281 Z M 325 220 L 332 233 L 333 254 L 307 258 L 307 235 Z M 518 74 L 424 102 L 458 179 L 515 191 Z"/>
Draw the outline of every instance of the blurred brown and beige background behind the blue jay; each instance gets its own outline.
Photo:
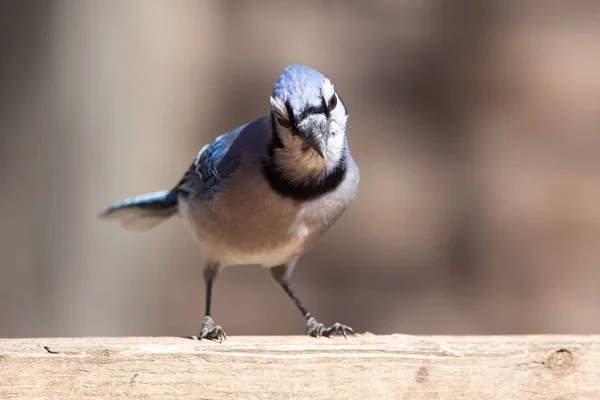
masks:
<path id="1" fill-rule="evenodd" d="M 96 214 L 175 184 L 313 66 L 350 112 L 361 187 L 300 262 L 357 331 L 600 331 L 600 2 L 0 2 L 0 336 L 191 335 L 180 219 Z M 301 334 L 260 268 L 217 281 L 229 335 Z"/>

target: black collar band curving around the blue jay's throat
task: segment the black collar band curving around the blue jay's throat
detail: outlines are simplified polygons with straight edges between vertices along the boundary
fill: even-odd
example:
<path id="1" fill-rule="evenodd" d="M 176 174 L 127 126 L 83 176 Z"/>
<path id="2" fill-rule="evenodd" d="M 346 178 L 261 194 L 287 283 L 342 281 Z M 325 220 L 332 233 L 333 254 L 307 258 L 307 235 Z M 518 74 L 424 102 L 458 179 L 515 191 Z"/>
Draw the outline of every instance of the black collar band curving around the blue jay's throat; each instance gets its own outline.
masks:
<path id="1" fill-rule="evenodd" d="M 269 186 L 277 194 L 296 201 L 307 201 L 317 199 L 332 192 L 340 186 L 346 176 L 346 151 L 329 173 L 319 178 L 306 180 L 304 182 L 292 182 L 281 174 L 275 165 L 275 145 L 271 142 L 267 148 L 268 156 L 263 161 L 262 173 Z"/>

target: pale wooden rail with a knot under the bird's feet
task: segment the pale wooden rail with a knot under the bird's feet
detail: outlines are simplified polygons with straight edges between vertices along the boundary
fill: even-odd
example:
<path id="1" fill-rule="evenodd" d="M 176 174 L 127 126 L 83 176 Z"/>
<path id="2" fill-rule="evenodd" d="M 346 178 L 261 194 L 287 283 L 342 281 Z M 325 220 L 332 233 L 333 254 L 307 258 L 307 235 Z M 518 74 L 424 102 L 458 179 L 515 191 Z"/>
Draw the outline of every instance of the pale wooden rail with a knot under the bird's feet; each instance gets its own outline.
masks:
<path id="1" fill-rule="evenodd" d="M 600 336 L 0 339 L 0 399 L 600 399 Z"/>

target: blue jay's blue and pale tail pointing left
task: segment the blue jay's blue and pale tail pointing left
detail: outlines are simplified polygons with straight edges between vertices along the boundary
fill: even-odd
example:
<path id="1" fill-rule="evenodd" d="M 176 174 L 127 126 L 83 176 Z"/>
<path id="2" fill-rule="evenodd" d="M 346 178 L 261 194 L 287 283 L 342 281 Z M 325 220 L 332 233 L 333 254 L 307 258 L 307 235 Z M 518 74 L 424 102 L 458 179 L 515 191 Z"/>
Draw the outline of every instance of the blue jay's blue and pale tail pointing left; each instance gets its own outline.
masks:
<path id="1" fill-rule="evenodd" d="M 163 190 L 116 202 L 98 217 L 121 222 L 125 229 L 142 232 L 154 228 L 177 213 L 177 192 Z"/>

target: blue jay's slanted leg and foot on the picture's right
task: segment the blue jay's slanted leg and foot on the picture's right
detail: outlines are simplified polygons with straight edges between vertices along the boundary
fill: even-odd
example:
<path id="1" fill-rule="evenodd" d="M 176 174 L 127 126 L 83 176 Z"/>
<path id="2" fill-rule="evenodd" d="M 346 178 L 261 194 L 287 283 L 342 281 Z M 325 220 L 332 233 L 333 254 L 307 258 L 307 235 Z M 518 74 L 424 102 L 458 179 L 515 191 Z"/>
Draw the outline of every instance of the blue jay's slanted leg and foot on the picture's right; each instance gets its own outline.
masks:
<path id="1" fill-rule="evenodd" d="M 330 337 L 333 334 L 342 334 L 347 339 L 347 334 L 354 335 L 354 330 L 349 326 L 342 325 L 339 322 L 336 322 L 330 327 L 325 327 L 322 323 L 317 321 L 304 307 L 296 293 L 292 290 L 289 284 L 289 277 L 291 271 L 293 269 L 293 264 L 283 264 L 277 267 L 271 268 L 271 275 L 273 279 L 279 283 L 279 285 L 285 290 L 285 292 L 290 296 L 298 310 L 302 313 L 302 316 L 306 320 L 306 333 L 312 337 Z"/>

